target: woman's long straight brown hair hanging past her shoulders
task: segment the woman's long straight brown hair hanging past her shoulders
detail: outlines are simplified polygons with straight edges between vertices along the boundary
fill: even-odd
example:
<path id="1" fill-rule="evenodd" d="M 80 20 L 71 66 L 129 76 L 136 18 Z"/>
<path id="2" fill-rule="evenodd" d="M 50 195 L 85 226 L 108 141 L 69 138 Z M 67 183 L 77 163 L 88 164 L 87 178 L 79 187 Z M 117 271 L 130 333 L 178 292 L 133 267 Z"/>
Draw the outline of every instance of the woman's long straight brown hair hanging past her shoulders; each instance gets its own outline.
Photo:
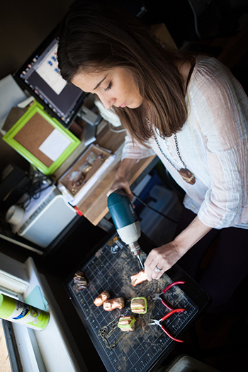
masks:
<path id="1" fill-rule="evenodd" d="M 106 1 L 84 3 L 73 4 L 60 25 L 57 57 L 62 77 L 71 82 L 87 67 L 129 69 L 143 103 L 113 110 L 130 135 L 139 142 L 151 137 L 144 122 L 147 110 L 162 137 L 181 130 L 188 113 L 179 65 L 193 64 L 194 57 L 162 48 L 142 23 Z"/>

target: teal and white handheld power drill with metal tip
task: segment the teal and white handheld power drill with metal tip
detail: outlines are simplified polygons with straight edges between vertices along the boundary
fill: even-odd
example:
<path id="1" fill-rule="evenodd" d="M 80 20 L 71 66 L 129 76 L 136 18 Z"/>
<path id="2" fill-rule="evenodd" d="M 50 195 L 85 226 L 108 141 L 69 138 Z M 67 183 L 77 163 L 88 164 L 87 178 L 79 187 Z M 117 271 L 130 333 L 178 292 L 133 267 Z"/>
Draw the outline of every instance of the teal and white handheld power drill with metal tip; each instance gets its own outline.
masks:
<path id="1" fill-rule="evenodd" d="M 128 245 L 144 270 L 140 259 L 140 244 L 137 242 L 140 237 L 140 222 L 130 199 L 122 188 L 118 188 L 108 196 L 108 210 L 120 239 Z"/>

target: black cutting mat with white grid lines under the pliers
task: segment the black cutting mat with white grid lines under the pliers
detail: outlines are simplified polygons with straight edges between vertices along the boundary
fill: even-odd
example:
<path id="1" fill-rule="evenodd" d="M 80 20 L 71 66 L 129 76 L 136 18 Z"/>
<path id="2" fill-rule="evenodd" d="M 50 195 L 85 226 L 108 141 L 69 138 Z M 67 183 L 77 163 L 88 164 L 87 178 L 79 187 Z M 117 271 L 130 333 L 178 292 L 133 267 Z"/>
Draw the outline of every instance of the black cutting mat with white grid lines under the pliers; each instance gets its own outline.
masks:
<path id="1" fill-rule="evenodd" d="M 147 256 L 141 252 L 141 257 L 142 261 L 145 261 Z M 132 287 L 130 276 L 140 271 L 140 264 L 130 253 L 128 247 L 117 238 L 117 235 L 114 235 L 109 242 L 101 247 L 94 257 L 81 267 L 81 271 L 84 271 L 89 285 L 79 290 L 72 278 L 67 284 L 67 289 L 107 371 L 148 371 L 173 342 L 160 327 L 148 325 L 151 319 L 159 320 L 169 312 L 160 300 L 152 300 L 152 295 L 161 293 L 166 286 L 172 283 L 171 278 L 164 274 L 159 281 L 145 281 Z M 183 288 L 184 285 L 181 285 L 180 288 L 174 286 L 163 297 L 172 308 L 185 309 L 184 312 L 175 313 L 163 322 L 163 325 L 174 337 L 188 325 L 188 322 L 198 312 L 197 305 L 188 298 Z M 112 312 L 103 310 L 103 306 L 97 308 L 93 301 L 102 291 L 108 291 L 111 298 L 123 297 L 125 308 Z M 99 329 L 111 321 L 113 321 L 112 324 L 115 324 L 120 315 L 133 315 L 130 310 L 130 300 L 140 296 L 147 298 L 147 313 L 145 315 L 135 314 L 135 330 L 126 332 L 115 349 L 108 349 L 103 339 L 98 336 Z M 109 330 L 111 325 L 108 327 Z M 108 344 L 113 344 L 121 334 L 123 331 L 115 329 L 108 339 Z"/>

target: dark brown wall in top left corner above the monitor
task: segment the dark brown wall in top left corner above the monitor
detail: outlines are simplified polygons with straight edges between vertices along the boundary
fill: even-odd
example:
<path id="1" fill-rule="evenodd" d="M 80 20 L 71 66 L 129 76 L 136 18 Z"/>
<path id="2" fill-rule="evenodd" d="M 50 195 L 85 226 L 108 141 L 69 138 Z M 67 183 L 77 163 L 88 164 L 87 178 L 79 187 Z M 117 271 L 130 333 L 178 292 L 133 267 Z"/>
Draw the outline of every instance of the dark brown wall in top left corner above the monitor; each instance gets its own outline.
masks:
<path id="1" fill-rule="evenodd" d="M 18 69 L 60 22 L 73 0 L 1 1 L 0 79 Z"/>

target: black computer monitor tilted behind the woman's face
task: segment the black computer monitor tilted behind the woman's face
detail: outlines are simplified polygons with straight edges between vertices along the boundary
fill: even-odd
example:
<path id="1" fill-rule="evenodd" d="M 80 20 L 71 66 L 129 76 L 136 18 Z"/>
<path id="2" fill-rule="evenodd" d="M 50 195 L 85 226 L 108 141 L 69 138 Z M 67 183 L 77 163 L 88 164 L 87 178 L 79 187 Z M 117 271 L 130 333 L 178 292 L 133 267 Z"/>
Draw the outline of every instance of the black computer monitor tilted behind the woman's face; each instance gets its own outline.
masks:
<path id="1" fill-rule="evenodd" d="M 84 102 L 86 93 L 73 84 L 67 84 L 60 76 L 55 30 L 13 77 L 53 118 L 69 128 Z"/>

